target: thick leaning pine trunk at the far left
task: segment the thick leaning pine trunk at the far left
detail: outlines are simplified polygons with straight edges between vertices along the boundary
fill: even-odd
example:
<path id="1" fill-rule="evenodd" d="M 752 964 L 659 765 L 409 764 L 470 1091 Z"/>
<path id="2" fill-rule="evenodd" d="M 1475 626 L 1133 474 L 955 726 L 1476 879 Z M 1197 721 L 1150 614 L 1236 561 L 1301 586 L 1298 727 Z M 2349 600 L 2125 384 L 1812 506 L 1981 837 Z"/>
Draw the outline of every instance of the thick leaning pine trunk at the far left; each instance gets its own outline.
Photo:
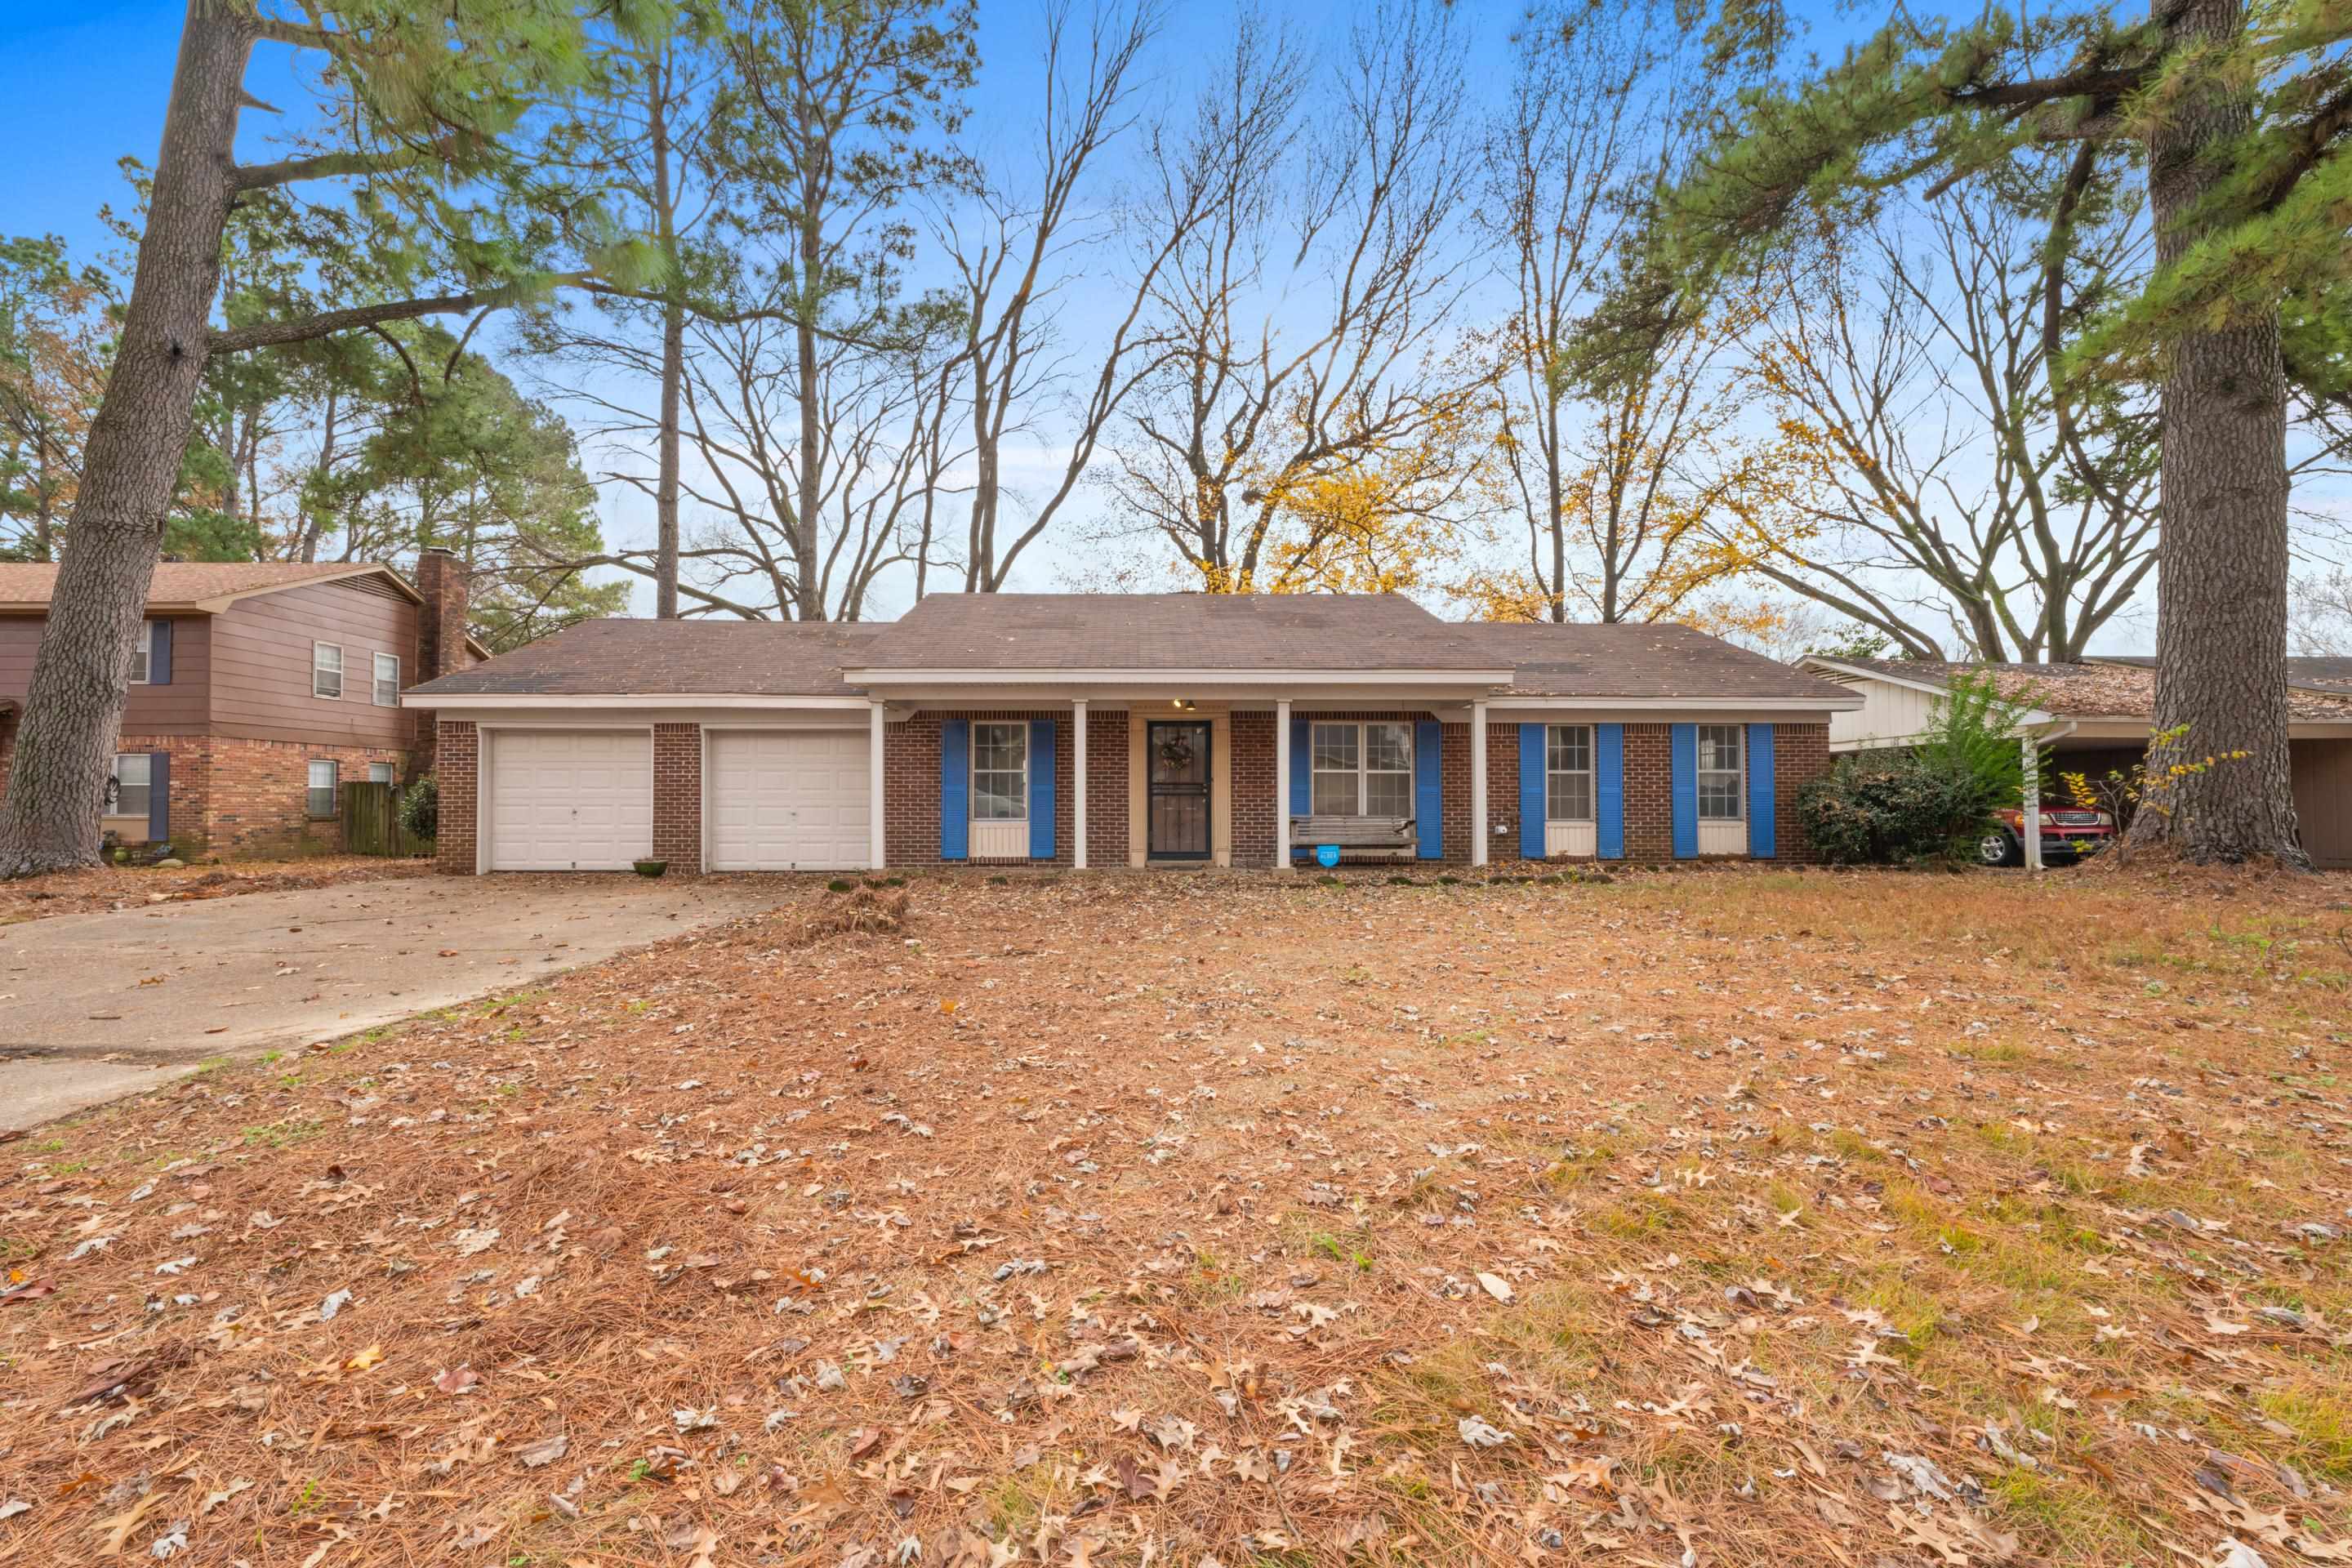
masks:
<path id="1" fill-rule="evenodd" d="M 132 642 L 205 374 L 249 49 L 252 33 L 223 5 L 191 0 L 120 350 L 89 425 L 66 559 L 0 797 L 0 877 L 99 863 Z"/>

